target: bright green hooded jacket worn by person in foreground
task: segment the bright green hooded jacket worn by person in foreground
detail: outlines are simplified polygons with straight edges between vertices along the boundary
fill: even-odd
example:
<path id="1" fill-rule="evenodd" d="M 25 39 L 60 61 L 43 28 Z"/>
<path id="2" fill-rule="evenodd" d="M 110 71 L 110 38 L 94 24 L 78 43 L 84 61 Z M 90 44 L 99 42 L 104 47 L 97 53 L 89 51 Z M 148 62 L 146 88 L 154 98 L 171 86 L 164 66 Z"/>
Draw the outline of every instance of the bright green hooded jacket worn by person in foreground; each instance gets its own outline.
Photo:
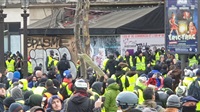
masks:
<path id="1" fill-rule="evenodd" d="M 120 93 L 119 85 L 117 83 L 112 83 L 107 87 L 107 91 L 105 92 L 105 102 L 104 107 L 106 112 L 116 112 L 116 97 Z"/>

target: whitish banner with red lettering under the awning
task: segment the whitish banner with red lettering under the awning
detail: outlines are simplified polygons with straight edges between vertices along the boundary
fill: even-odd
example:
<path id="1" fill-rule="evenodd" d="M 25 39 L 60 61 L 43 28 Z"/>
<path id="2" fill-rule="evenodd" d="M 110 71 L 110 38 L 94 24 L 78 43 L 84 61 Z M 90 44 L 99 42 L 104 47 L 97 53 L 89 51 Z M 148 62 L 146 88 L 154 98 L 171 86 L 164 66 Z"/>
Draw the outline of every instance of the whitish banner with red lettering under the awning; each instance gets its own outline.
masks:
<path id="1" fill-rule="evenodd" d="M 164 47 L 164 34 L 131 34 L 121 35 L 121 54 L 124 56 L 126 51 L 133 54 L 137 51 L 137 46 L 156 46 L 157 48 Z"/>

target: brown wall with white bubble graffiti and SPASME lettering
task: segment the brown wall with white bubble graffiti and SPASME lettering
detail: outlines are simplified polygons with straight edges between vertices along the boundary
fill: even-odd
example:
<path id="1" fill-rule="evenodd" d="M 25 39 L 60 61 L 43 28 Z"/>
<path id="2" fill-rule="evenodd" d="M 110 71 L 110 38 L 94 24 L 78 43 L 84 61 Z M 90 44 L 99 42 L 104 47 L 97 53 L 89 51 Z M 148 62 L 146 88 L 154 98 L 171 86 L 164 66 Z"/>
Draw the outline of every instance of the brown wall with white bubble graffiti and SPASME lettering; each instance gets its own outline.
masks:
<path id="1" fill-rule="evenodd" d="M 67 54 L 67 59 L 70 62 L 71 71 L 73 78 L 76 77 L 76 65 L 74 64 L 76 60 L 76 49 L 74 46 L 73 38 L 59 38 L 59 37 L 48 37 L 48 38 L 38 38 L 30 37 L 28 38 L 28 50 L 29 56 L 33 67 L 42 66 L 42 70 L 46 72 L 46 59 L 50 55 L 50 50 L 54 51 L 56 58 L 60 60 L 63 54 Z"/>

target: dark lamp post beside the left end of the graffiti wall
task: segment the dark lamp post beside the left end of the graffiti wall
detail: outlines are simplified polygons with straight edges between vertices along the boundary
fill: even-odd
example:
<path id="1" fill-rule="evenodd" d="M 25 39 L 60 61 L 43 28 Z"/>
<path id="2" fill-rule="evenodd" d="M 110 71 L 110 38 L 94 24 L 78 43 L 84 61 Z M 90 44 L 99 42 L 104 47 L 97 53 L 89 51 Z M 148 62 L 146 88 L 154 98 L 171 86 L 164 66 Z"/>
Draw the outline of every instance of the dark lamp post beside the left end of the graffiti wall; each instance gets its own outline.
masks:
<path id="1" fill-rule="evenodd" d="M 23 14 L 21 16 L 23 17 L 23 34 L 24 34 L 24 63 L 23 63 L 23 69 L 24 69 L 24 76 L 28 75 L 28 64 L 27 64 L 27 58 L 28 58 L 28 49 L 27 49 L 27 18 L 29 14 L 27 14 L 27 9 L 29 7 L 29 0 L 21 0 Z"/>

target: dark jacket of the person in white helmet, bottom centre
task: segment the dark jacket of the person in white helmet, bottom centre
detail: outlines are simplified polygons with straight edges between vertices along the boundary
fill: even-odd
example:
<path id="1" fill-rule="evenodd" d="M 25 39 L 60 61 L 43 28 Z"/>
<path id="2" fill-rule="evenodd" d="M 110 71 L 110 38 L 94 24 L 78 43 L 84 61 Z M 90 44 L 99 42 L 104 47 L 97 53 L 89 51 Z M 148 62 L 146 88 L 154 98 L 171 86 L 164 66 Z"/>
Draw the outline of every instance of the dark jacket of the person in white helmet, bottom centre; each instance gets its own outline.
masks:
<path id="1" fill-rule="evenodd" d="M 62 112 L 92 112 L 93 108 L 94 101 L 88 98 L 86 90 L 78 90 L 65 103 Z"/>

